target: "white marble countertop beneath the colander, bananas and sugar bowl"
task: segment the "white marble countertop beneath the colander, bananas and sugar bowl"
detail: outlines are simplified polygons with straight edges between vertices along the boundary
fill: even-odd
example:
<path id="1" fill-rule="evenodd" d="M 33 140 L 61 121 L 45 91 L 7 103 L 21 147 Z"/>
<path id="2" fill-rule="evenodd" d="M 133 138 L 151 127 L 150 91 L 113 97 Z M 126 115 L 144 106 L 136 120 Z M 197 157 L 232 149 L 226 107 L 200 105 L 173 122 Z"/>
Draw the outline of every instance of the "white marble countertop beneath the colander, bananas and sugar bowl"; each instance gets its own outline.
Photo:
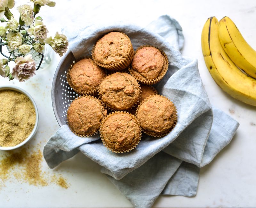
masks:
<path id="1" fill-rule="evenodd" d="M 16 6 L 28 1 L 16 1 Z M 231 143 L 200 171 L 195 197 L 160 196 L 154 207 L 255 207 L 256 187 L 256 108 L 231 98 L 215 84 L 208 72 L 202 51 L 201 31 L 208 17 L 230 17 L 248 43 L 256 49 L 256 3 L 246 1 L 91 1 L 56 0 L 53 8 L 42 7 L 40 16 L 54 35 L 68 22 L 79 24 L 100 18 L 129 20 L 146 26 L 162 14 L 169 14 L 179 21 L 185 36 L 183 55 L 198 59 L 199 71 L 212 105 L 220 108 L 240 126 Z M 60 57 L 54 54 L 49 68 L 39 70 L 25 83 L 7 81 L 0 77 L 0 85 L 16 85 L 31 94 L 39 110 L 39 129 L 31 146 L 43 149 L 44 143 L 59 125 L 52 110 L 51 86 Z M 40 143 L 41 142 L 41 143 Z M 0 155 L 4 155 L 0 151 Z M 100 166 L 77 154 L 63 162 L 58 170 L 50 170 L 45 161 L 43 171 L 60 172 L 68 181 L 63 189 L 50 184 L 36 187 L 10 178 L 1 185 L 0 207 L 132 207 L 132 204 L 100 173 Z"/>

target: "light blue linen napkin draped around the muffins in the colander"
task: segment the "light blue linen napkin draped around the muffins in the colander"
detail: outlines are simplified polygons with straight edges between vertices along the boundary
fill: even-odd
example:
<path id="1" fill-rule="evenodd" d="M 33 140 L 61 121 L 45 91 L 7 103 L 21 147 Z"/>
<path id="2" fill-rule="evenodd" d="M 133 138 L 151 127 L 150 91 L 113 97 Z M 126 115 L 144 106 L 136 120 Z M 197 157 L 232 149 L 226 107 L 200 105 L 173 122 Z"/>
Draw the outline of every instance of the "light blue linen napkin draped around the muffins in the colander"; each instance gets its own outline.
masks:
<path id="1" fill-rule="evenodd" d="M 65 28 L 63 33 L 67 35 L 70 50 L 77 59 L 90 55 L 93 44 L 110 31 L 126 33 L 135 50 L 144 44 L 164 50 L 169 68 L 156 88 L 175 104 L 177 125 L 162 138 L 143 134 L 139 145 L 124 154 L 107 150 L 99 135 L 80 138 L 63 125 L 44 147 L 47 164 L 54 168 L 81 151 L 102 166 L 101 172 L 134 207 L 151 207 L 160 194 L 195 196 L 199 167 L 210 163 L 231 141 L 239 124 L 211 107 L 197 60 L 180 53 L 184 36 L 176 20 L 164 15 L 146 28 L 125 23 L 108 25 L 92 24 L 79 30 Z"/>

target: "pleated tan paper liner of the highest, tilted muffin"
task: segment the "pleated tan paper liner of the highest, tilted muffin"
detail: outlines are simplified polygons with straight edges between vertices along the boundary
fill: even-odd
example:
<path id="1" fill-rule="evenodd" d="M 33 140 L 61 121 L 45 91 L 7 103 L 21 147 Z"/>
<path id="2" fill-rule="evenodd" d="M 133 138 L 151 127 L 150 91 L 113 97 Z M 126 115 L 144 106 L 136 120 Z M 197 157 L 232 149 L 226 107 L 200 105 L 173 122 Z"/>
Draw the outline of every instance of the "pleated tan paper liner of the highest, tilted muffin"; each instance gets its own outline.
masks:
<path id="1" fill-rule="evenodd" d="M 124 34 L 124 36 L 127 37 L 130 40 L 130 38 L 125 33 L 123 33 L 123 32 L 120 32 L 120 33 Z M 124 58 L 122 58 L 122 60 L 120 60 L 119 62 L 116 62 L 116 63 L 113 63 L 113 64 L 102 64 L 99 61 L 95 60 L 94 50 L 95 50 L 96 44 L 94 44 L 93 47 L 92 47 L 92 59 L 94 60 L 94 62 L 96 64 L 98 64 L 99 66 L 101 66 L 103 68 L 107 68 L 110 71 L 115 71 L 115 72 L 123 71 L 125 68 L 127 68 L 131 64 L 133 56 L 134 56 L 134 51 L 133 51 L 131 40 L 130 40 L 130 43 L 131 43 L 131 45 L 130 45 L 129 52 L 127 52 L 127 54 L 124 56 Z"/>

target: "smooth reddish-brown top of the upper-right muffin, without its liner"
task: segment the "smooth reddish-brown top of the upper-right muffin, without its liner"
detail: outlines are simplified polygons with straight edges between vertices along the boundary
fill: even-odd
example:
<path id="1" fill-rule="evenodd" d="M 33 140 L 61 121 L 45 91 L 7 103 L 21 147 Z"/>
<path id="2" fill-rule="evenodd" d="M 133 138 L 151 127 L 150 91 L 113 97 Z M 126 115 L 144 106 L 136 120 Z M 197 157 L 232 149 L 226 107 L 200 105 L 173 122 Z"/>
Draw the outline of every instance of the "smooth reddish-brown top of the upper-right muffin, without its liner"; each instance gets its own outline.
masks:
<path id="1" fill-rule="evenodd" d="M 132 71 L 139 78 L 155 79 L 165 69 L 166 60 L 162 53 L 154 47 L 139 49 L 132 60 Z"/>

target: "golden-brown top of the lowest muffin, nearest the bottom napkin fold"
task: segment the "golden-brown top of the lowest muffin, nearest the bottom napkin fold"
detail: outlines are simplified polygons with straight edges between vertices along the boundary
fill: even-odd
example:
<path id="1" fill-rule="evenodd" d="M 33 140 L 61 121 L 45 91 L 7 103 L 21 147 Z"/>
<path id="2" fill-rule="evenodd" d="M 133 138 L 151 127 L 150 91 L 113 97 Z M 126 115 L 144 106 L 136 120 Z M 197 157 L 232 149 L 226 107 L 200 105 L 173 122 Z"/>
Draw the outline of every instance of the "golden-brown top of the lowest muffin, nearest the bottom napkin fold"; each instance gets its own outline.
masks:
<path id="1" fill-rule="evenodd" d="M 136 118 L 124 112 L 110 115 L 102 125 L 102 137 L 113 150 L 128 150 L 140 139 L 140 126 Z"/>

